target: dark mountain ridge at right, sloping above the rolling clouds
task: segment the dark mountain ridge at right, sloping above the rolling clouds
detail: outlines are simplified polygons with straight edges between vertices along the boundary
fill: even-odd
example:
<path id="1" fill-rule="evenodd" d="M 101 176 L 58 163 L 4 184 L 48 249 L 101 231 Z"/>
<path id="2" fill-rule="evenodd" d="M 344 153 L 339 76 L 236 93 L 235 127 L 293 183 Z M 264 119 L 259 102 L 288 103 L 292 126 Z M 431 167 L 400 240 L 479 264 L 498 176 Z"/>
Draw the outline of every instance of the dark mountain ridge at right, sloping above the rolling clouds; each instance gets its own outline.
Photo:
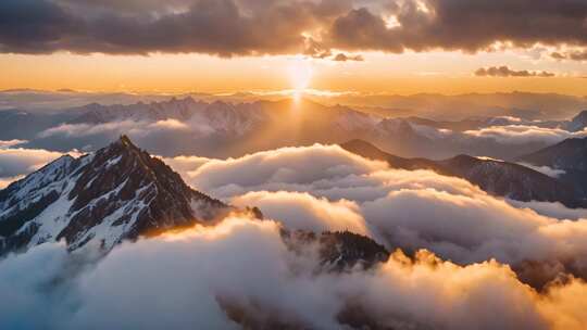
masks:
<path id="1" fill-rule="evenodd" d="M 587 205 L 580 188 L 514 163 L 467 155 L 445 161 L 402 158 L 361 140 L 350 141 L 341 147 L 367 158 L 385 161 L 394 168 L 430 169 L 441 175 L 459 177 L 498 196 L 523 202 L 561 202 L 570 207 Z"/>

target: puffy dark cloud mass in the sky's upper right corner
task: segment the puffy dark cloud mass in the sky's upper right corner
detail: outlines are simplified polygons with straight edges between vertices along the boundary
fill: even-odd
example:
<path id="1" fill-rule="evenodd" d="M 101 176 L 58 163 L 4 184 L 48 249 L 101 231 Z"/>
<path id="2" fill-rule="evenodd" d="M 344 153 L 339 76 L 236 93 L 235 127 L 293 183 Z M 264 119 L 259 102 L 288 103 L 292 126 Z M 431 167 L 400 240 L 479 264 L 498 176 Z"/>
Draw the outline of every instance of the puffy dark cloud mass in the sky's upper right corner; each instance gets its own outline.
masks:
<path id="1" fill-rule="evenodd" d="M 384 15 L 355 9 L 340 16 L 330 39 L 345 49 L 401 52 L 405 49 L 478 51 L 496 41 L 514 46 L 587 45 L 587 2 L 584 0 L 423 0 L 397 2 Z"/>

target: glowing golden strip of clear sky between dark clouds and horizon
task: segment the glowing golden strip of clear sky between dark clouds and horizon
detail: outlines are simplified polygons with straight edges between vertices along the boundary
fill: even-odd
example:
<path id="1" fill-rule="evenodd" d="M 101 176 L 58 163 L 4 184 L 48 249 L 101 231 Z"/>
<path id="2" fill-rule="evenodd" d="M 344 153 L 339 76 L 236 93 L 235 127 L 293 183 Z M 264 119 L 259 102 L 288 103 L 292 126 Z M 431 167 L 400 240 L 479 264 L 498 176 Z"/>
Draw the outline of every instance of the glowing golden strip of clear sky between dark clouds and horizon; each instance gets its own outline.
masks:
<path id="1" fill-rule="evenodd" d="M 475 69 L 498 66 L 555 72 L 554 77 L 479 77 Z M 587 96 L 579 63 L 516 54 L 367 53 L 361 62 L 333 62 L 301 55 L 221 59 L 201 54 L 50 55 L 0 54 L 10 79 L 0 89 L 39 89 L 137 93 L 234 93 L 313 89 L 328 92 L 464 94 L 555 92 Z M 301 73 L 300 73 L 301 71 Z M 64 74 L 66 73 L 66 74 Z"/>

